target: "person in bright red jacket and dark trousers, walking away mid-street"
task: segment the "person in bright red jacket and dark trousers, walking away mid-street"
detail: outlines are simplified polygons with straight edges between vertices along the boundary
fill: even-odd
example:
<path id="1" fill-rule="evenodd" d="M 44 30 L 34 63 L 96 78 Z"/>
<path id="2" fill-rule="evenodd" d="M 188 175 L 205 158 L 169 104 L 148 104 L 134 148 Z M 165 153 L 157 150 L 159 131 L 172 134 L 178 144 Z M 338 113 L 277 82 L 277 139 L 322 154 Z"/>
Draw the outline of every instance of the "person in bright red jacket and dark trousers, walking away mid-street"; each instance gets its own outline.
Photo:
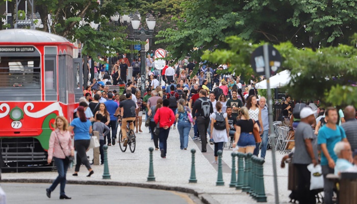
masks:
<path id="1" fill-rule="evenodd" d="M 159 147 L 161 151 L 161 158 L 166 158 L 166 147 L 167 147 L 167 138 L 170 132 L 170 126 L 175 121 L 175 115 L 173 111 L 168 107 L 170 101 L 164 99 L 162 105 L 163 107 L 158 109 L 155 113 L 154 120 L 158 124 L 160 122 L 160 133 L 159 133 Z"/>

